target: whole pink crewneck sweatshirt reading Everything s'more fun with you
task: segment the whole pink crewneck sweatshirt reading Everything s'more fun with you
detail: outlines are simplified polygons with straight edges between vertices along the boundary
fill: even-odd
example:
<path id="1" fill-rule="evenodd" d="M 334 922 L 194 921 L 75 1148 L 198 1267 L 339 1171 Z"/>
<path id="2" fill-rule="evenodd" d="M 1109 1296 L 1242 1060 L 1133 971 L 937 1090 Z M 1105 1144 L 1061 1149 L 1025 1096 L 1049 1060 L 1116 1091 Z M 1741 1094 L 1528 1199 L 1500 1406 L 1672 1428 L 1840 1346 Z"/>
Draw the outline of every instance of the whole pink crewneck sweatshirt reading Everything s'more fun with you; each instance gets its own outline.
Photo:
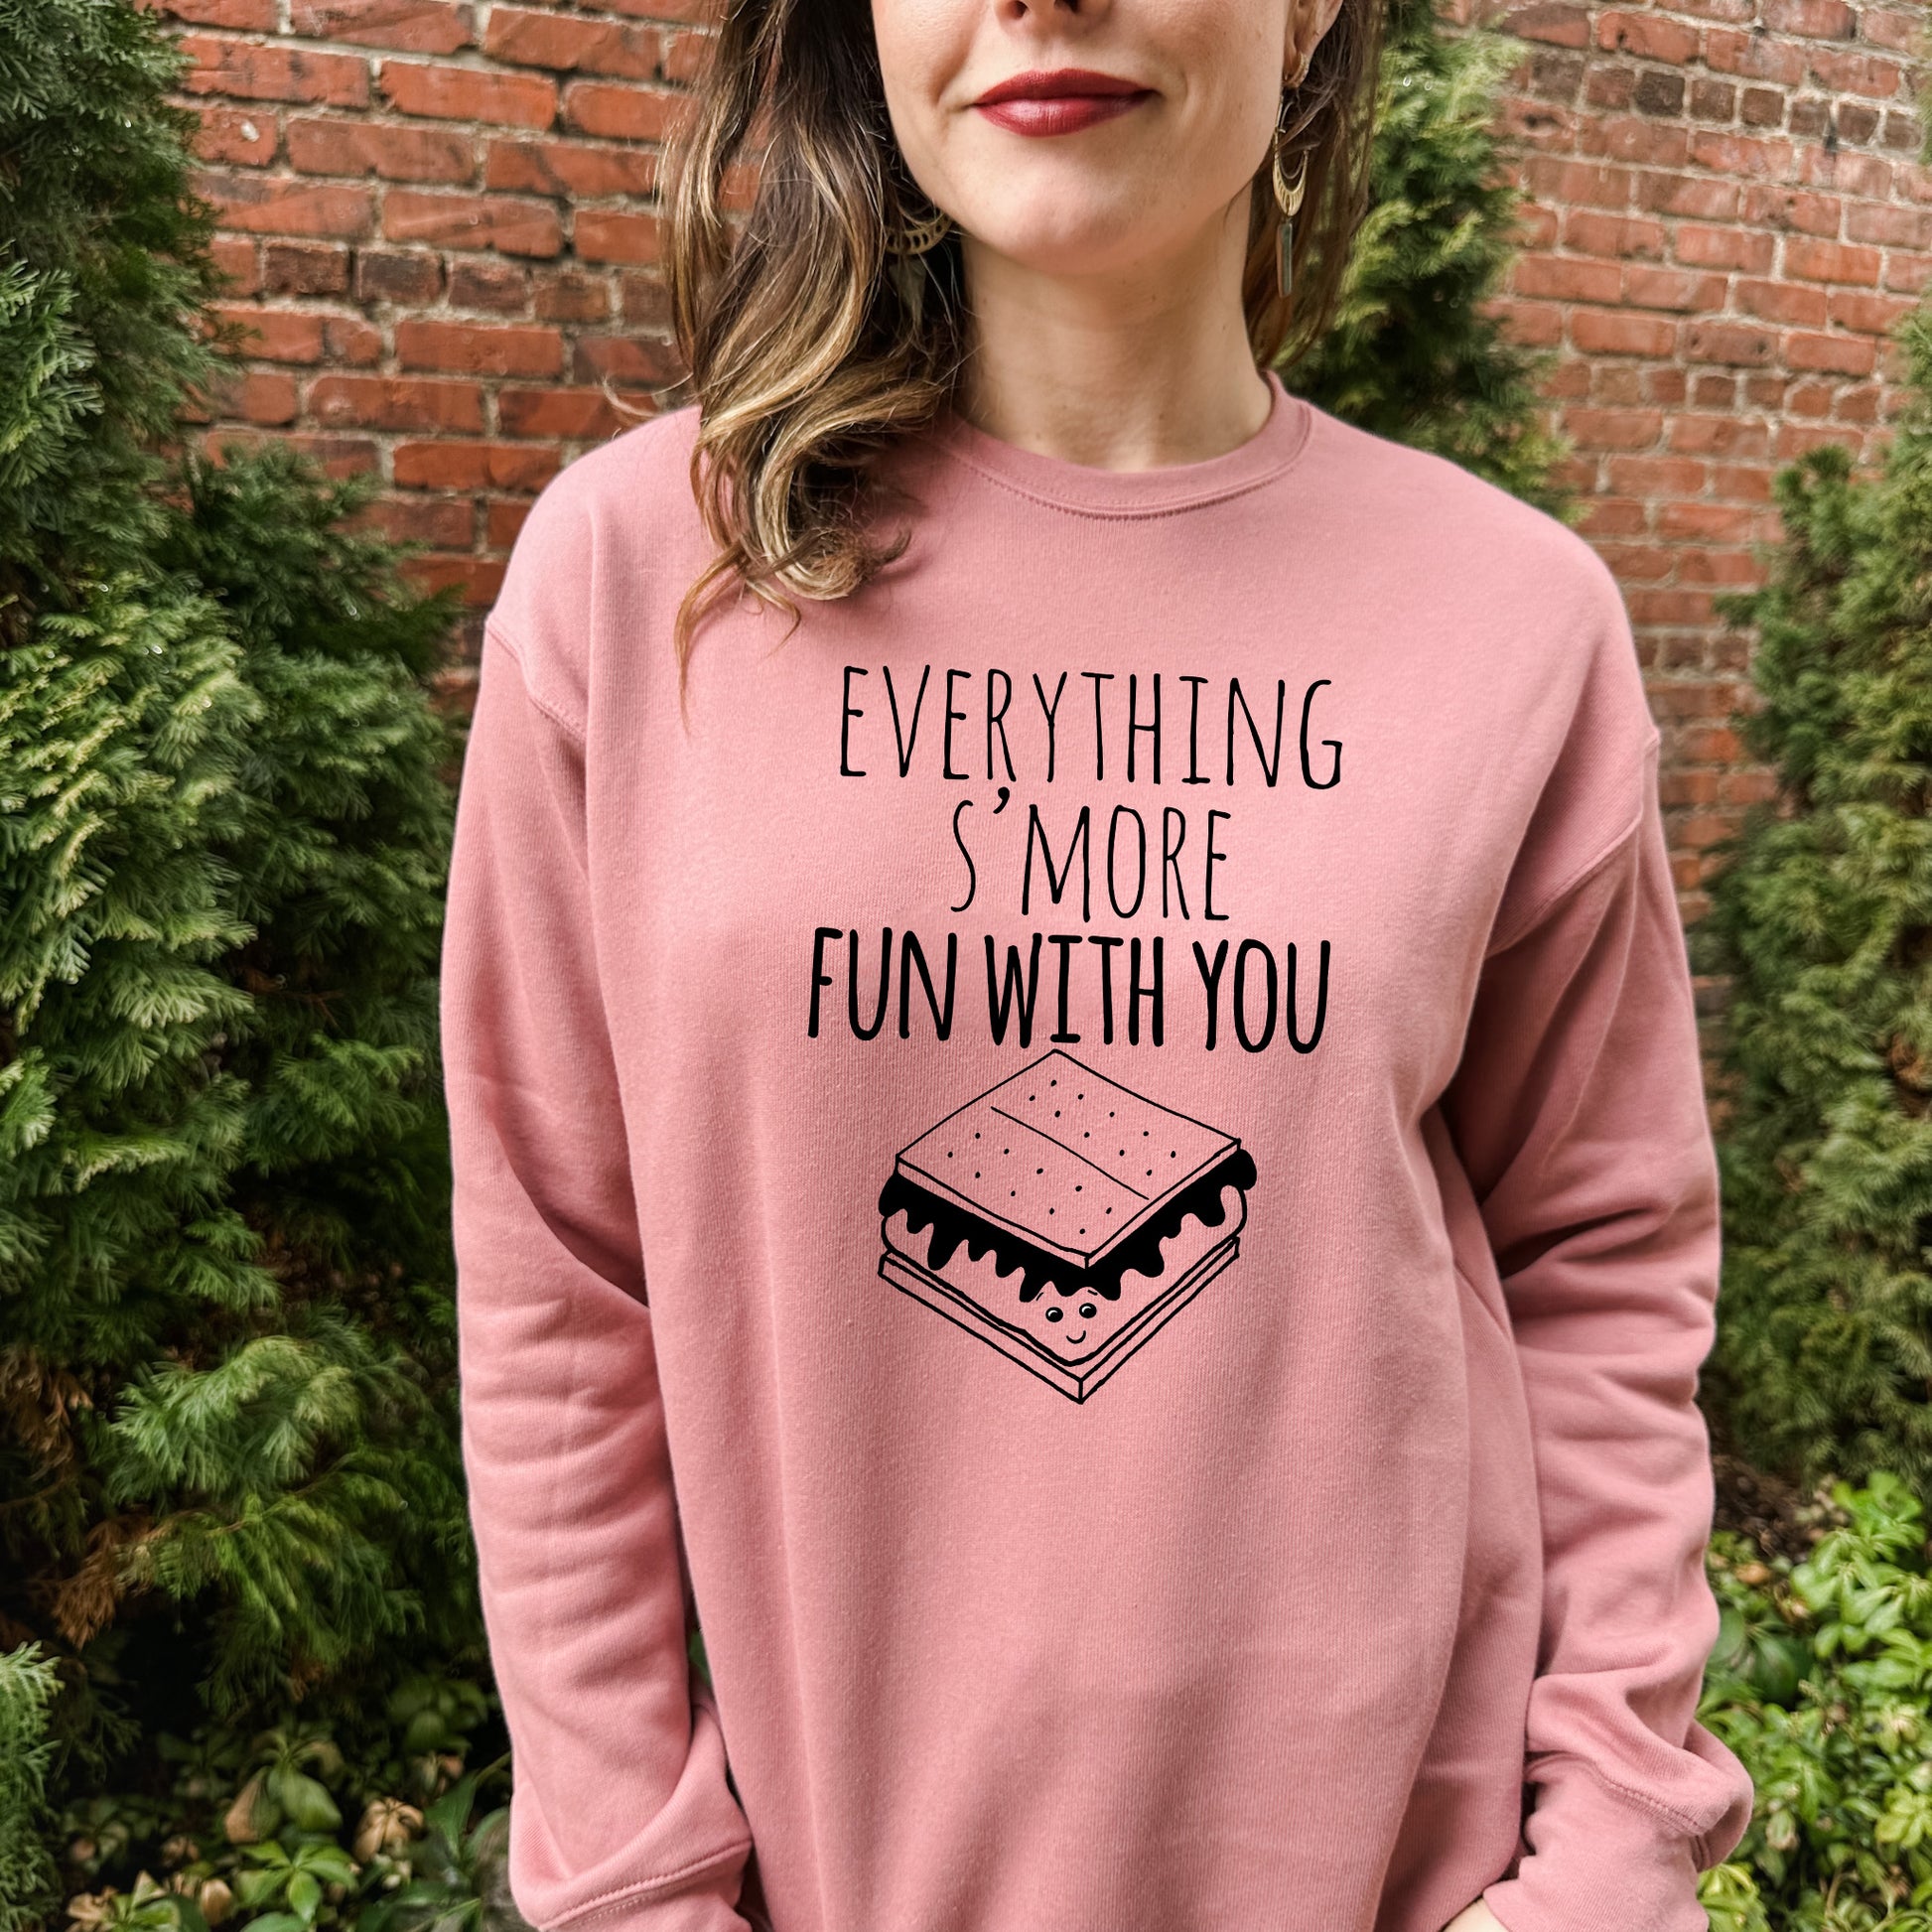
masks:
<path id="1" fill-rule="evenodd" d="M 1604 566 L 1279 384 L 1151 471 L 952 421 L 680 719 L 692 433 L 537 502 L 458 817 L 522 1909 L 1700 1932 L 1716 1165 Z"/>

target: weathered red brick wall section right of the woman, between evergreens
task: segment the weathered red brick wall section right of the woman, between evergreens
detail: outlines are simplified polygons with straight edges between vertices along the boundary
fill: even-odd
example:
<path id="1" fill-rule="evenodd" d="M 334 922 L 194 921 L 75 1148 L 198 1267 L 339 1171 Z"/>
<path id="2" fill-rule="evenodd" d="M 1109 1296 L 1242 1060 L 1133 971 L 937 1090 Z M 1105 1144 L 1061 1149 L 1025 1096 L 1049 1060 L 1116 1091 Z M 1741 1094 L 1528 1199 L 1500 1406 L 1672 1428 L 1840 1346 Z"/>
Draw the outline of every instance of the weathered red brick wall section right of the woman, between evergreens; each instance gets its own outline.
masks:
<path id="1" fill-rule="evenodd" d="M 1777 464 L 1872 456 L 1899 400 L 1886 330 L 1932 270 L 1913 112 L 1922 4 L 1530 0 L 1509 104 L 1532 207 L 1509 311 L 1559 354 L 1584 531 L 1623 580 L 1665 730 L 1683 910 L 1768 786 L 1723 717 Z"/>

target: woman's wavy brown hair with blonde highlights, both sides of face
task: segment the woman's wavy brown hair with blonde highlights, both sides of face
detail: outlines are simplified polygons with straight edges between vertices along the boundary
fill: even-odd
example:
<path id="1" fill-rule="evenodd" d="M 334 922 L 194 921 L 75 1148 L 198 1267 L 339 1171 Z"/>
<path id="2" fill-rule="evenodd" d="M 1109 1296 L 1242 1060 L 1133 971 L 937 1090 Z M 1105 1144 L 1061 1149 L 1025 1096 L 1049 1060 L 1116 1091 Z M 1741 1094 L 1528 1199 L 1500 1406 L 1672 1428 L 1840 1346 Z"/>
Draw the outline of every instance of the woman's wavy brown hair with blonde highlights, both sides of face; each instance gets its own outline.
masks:
<path id="1" fill-rule="evenodd" d="M 1250 189 L 1242 303 L 1262 365 L 1289 365 L 1333 313 L 1368 182 L 1387 0 L 1343 0 L 1289 102 L 1289 176 L 1306 166 L 1294 296 L 1275 272 L 1264 158 Z M 893 139 L 869 0 L 724 0 L 668 156 L 667 274 L 697 402 L 692 491 L 717 554 L 684 593 L 672 643 L 750 591 L 798 620 L 906 547 L 877 535 L 871 471 L 954 392 L 964 346 L 958 234 L 910 261 L 887 236 L 931 213 Z M 755 162 L 744 218 L 728 193 Z M 910 272 L 908 272 L 910 270 Z"/>

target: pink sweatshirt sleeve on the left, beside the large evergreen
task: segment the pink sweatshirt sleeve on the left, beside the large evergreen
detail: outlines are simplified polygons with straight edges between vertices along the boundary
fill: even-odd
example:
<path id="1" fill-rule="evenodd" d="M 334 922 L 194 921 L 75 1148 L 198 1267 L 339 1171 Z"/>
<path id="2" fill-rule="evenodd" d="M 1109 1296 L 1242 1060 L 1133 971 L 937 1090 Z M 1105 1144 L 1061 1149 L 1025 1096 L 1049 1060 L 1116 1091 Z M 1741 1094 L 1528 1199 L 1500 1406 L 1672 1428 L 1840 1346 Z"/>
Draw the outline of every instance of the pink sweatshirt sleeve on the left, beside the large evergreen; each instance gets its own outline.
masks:
<path id="1" fill-rule="evenodd" d="M 531 696 L 524 657 L 493 620 L 440 978 L 462 1443 L 514 1756 L 510 1889 L 543 1932 L 744 1932 L 750 1833 L 688 1656 L 597 989 L 583 744 L 554 697 Z"/>

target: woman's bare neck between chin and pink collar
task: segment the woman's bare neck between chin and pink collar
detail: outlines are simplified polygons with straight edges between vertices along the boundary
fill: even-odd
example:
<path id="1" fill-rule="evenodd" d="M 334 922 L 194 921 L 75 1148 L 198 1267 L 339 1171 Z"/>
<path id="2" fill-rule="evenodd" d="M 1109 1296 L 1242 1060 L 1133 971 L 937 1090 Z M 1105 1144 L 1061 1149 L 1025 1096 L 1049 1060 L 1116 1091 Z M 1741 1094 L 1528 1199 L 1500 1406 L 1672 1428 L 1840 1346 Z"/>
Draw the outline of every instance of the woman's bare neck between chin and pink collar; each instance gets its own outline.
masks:
<path id="1" fill-rule="evenodd" d="M 956 406 L 987 435 L 1094 469 L 1155 469 L 1221 456 L 1267 421 L 1240 303 L 1246 197 L 1179 257 L 1107 276 L 1059 276 L 972 236 L 964 247 Z"/>

